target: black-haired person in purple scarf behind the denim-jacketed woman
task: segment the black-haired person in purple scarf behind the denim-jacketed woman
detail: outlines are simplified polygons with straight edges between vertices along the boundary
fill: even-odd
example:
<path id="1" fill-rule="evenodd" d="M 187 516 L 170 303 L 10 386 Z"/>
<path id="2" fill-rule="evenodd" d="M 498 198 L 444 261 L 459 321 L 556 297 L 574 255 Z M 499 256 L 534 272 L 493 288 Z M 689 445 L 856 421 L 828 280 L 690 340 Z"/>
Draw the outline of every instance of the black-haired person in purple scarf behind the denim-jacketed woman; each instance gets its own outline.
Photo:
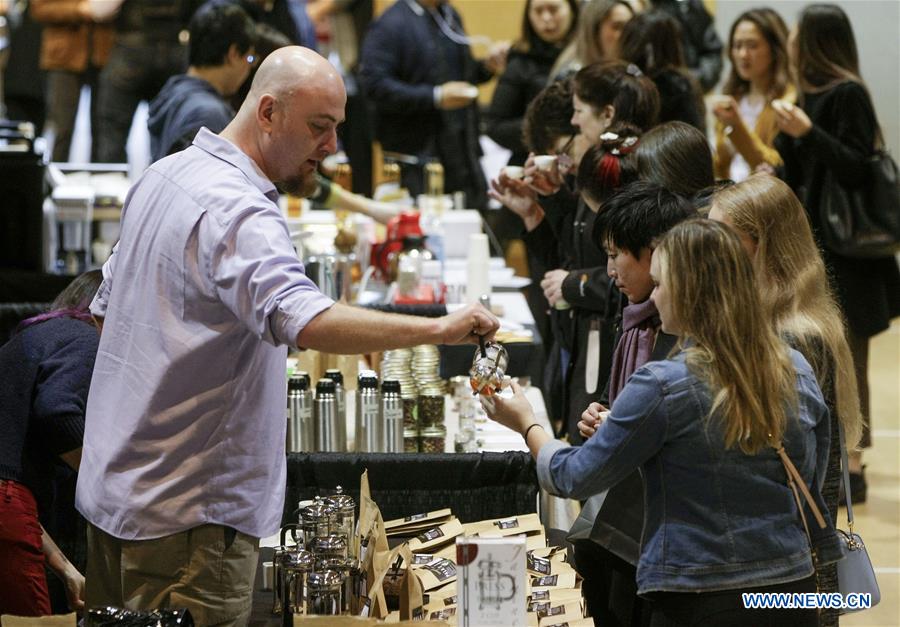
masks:
<path id="1" fill-rule="evenodd" d="M 596 202 L 591 194 L 585 194 L 585 200 Z M 600 412 L 612 405 L 634 371 L 648 361 L 667 359 L 675 348 L 675 336 L 662 331 L 659 311 L 650 299 L 650 259 L 657 240 L 695 215 L 686 199 L 644 181 L 624 186 L 598 214 L 593 235 L 606 249 L 610 279 L 627 304 L 616 325 L 606 390 L 599 403 L 585 409 L 578 424 L 585 438 L 593 435 Z M 582 594 L 598 626 L 649 624 L 649 605 L 637 595 L 635 583 L 644 523 L 642 497 L 643 484 L 634 472 L 610 488 L 589 536 L 573 542 L 575 567 L 584 578 Z"/>

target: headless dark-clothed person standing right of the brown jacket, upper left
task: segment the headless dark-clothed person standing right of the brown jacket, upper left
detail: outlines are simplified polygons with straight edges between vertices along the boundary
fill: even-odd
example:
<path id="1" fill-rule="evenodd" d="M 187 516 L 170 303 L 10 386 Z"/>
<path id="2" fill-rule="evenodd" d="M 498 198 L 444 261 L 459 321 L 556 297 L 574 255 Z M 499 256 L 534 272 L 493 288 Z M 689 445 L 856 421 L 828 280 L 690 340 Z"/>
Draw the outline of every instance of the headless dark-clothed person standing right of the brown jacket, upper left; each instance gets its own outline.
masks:
<path id="1" fill-rule="evenodd" d="M 109 0 L 120 4 L 115 40 L 100 73 L 99 118 L 93 132 L 97 160 L 128 161 L 126 146 L 134 112 L 156 97 L 166 81 L 187 68 L 184 32 L 202 0 Z"/>

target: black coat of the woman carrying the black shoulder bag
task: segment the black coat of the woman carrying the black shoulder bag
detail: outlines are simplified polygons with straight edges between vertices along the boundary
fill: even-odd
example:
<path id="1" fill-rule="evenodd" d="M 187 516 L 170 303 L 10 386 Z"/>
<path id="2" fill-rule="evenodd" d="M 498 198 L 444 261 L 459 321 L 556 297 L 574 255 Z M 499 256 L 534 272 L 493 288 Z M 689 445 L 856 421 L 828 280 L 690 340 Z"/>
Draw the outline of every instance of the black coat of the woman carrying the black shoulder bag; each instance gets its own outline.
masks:
<path id="1" fill-rule="evenodd" d="M 900 270 L 894 257 L 851 259 L 825 248 L 819 236 L 826 170 L 848 187 L 865 184 L 865 159 L 878 132 L 875 110 L 865 87 L 847 81 L 819 93 L 803 94 L 803 109 L 813 128 L 800 139 L 775 138 L 784 180 L 809 213 L 822 257 L 850 331 L 871 337 L 900 315 Z"/>

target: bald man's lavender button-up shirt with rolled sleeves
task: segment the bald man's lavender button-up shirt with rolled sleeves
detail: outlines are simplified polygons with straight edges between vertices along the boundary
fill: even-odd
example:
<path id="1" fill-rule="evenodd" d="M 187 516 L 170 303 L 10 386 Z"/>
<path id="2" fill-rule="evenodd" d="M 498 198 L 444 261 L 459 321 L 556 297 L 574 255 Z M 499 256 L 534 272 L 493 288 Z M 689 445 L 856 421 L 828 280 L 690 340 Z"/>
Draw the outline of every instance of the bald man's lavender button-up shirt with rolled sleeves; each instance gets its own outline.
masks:
<path id="1" fill-rule="evenodd" d="M 277 199 L 206 129 L 129 193 L 91 304 L 105 322 L 76 494 L 110 535 L 278 530 L 286 346 L 333 301 L 304 274 Z"/>

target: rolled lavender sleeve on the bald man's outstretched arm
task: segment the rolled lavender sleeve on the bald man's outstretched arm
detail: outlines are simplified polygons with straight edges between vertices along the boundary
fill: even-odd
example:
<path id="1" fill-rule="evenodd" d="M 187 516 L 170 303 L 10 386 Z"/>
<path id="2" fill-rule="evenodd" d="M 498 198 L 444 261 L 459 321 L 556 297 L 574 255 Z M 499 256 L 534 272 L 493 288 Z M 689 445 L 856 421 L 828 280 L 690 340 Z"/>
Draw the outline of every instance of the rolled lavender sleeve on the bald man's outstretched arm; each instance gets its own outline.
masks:
<path id="1" fill-rule="evenodd" d="M 270 344 L 297 347 L 297 335 L 334 301 L 297 258 L 281 217 L 263 208 L 235 220 L 219 240 L 212 281 L 226 307 Z"/>

